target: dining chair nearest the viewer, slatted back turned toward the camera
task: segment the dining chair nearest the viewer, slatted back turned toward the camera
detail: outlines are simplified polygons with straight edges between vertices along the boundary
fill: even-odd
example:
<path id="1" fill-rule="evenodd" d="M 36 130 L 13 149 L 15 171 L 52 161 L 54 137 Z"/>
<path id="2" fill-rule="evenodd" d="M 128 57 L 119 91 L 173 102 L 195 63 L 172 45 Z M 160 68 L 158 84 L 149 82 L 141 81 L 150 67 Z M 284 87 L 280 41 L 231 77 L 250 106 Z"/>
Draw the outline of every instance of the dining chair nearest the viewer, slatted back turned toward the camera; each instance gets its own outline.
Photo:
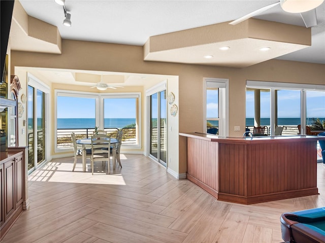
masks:
<path id="1" fill-rule="evenodd" d="M 110 173 L 110 148 L 110 136 L 106 134 L 94 134 L 91 136 L 91 175 L 93 175 L 94 162 L 96 161 L 107 161 L 107 170 Z"/>

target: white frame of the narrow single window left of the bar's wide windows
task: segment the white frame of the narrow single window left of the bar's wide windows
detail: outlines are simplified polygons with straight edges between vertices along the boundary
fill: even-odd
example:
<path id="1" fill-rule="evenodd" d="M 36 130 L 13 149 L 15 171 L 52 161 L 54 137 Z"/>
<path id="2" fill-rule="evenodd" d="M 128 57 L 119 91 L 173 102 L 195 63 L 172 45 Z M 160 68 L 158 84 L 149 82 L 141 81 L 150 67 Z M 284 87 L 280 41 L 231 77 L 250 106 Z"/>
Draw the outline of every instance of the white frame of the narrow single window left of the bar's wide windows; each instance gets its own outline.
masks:
<path id="1" fill-rule="evenodd" d="M 207 130 L 207 82 L 218 83 L 219 88 L 219 136 L 229 136 L 229 79 L 204 78 L 203 131 Z"/>

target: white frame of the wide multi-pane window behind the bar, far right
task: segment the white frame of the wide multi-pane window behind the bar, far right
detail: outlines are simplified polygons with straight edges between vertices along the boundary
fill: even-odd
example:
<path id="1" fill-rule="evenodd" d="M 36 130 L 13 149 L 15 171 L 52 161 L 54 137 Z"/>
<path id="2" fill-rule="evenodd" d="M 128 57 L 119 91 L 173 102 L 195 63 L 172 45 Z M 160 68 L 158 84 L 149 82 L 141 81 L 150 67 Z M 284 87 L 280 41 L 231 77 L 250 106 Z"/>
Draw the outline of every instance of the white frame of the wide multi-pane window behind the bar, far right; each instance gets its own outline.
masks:
<path id="1" fill-rule="evenodd" d="M 265 88 L 271 90 L 271 109 L 270 109 L 270 135 L 274 136 L 275 124 L 275 90 L 300 90 L 300 124 L 301 134 L 306 133 L 306 91 L 325 91 L 325 85 L 318 84 L 296 84 L 296 83 L 277 83 L 267 81 L 246 81 L 246 88 Z"/>

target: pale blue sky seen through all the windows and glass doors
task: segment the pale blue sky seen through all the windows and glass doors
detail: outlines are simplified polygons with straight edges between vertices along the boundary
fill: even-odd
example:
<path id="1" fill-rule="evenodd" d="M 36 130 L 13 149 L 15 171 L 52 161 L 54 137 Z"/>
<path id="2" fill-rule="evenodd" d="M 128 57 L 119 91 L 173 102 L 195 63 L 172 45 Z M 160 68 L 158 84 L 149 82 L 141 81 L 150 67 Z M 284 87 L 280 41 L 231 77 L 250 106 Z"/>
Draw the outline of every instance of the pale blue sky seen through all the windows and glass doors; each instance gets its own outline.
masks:
<path id="1" fill-rule="evenodd" d="M 218 105 L 217 91 L 207 93 L 207 117 L 216 117 Z M 135 98 L 105 99 L 105 118 L 135 118 Z M 155 100 L 156 101 L 156 100 Z M 79 97 L 57 97 L 57 118 L 94 118 L 95 99 Z M 163 102 L 166 109 L 166 101 Z M 154 103 L 156 106 L 156 102 Z M 107 110 L 106 110 L 107 109 Z M 165 115 L 166 116 L 166 115 Z M 163 116 L 163 118 L 165 118 Z M 254 93 L 246 92 L 246 117 L 254 117 Z M 261 118 L 270 117 L 270 92 L 261 92 Z M 278 91 L 278 117 L 300 117 L 300 91 Z M 307 117 L 325 118 L 325 92 L 307 91 Z M 156 117 L 154 117 L 156 118 Z"/>

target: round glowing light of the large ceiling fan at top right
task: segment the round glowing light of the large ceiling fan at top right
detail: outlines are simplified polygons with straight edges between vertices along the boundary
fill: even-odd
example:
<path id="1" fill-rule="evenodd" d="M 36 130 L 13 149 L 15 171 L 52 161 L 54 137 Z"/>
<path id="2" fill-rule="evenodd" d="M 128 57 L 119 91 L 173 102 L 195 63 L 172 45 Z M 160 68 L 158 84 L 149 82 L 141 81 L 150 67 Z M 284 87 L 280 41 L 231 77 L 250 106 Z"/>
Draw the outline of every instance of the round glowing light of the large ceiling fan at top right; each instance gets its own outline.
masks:
<path id="1" fill-rule="evenodd" d="M 280 0 L 281 8 L 288 13 L 303 13 L 321 5 L 324 0 Z"/>

